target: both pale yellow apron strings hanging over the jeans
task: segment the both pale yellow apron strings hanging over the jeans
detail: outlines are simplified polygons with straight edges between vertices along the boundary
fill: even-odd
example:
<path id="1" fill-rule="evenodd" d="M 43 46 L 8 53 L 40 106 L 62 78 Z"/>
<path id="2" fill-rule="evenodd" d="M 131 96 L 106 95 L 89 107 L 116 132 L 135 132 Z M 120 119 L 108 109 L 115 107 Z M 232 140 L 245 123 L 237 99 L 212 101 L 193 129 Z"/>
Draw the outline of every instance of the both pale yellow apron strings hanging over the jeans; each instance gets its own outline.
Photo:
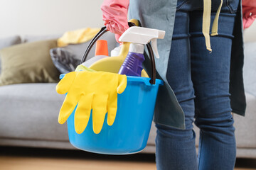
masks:
<path id="1" fill-rule="evenodd" d="M 206 49 L 210 52 L 212 52 L 212 49 L 210 47 L 210 35 L 218 35 L 218 18 L 220 16 L 220 9 L 223 5 L 223 0 L 220 0 L 220 6 L 218 7 L 218 10 L 216 12 L 213 26 L 212 26 L 212 33 L 210 34 L 210 11 L 211 11 L 211 0 L 203 0 L 203 26 L 202 26 L 202 32 L 203 36 L 206 39 Z"/>

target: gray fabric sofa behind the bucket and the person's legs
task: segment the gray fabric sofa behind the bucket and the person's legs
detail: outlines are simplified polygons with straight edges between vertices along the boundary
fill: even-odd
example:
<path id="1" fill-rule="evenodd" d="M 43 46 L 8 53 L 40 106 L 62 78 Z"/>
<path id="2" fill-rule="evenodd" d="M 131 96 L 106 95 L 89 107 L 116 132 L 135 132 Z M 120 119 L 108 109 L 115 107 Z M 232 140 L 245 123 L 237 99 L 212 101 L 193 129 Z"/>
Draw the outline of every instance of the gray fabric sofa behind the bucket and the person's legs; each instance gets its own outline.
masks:
<path id="1" fill-rule="evenodd" d="M 256 42 L 245 44 L 246 117 L 234 115 L 238 157 L 256 158 Z M 56 84 L 14 84 L 0 86 L 0 145 L 75 149 L 68 141 L 65 125 L 58 124 L 64 96 Z M 196 128 L 195 128 L 196 129 Z M 198 144 L 198 129 L 197 144 Z M 154 153 L 156 128 L 152 125 L 143 152 Z"/>

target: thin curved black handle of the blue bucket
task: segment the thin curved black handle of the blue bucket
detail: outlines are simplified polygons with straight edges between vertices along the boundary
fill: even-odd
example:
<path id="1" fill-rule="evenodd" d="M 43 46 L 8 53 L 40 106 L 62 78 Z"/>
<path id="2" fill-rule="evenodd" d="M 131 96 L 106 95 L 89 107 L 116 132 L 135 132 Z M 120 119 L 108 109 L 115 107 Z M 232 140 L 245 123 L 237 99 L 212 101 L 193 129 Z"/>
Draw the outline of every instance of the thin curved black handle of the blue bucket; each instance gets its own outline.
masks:
<path id="1" fill-rule="evenodd" d="M 135 26 L 134 23 L 128 23 L 129 27 Z M 82 60 L 80 62 L 80 64 L 82 64 L 83 62 L 85 62 L 87 55 L 89 54 L 90 50 L 92 49 L 92 46 L 95 44 L 95 42 L 105 33 L 107 33 L 107 28 L 106 27 L 102 27 L 99 31 L 99 33 L 97 33 L 95 35 L 94 38 L 92 38 L 92 40 L 90 41 L 90 44 L 87 46 L 87 49 L 85 50 L 85 54 L 82 57 Z M 150 79 L 150 84 L 156 84 L 156 63 L 154 60 L 154 52 L 152 50 L 151 44 L 150 42 L 146 44 L 146 48 L 149 51 L 149 57 L 151 59 L 151 79 Z"/>

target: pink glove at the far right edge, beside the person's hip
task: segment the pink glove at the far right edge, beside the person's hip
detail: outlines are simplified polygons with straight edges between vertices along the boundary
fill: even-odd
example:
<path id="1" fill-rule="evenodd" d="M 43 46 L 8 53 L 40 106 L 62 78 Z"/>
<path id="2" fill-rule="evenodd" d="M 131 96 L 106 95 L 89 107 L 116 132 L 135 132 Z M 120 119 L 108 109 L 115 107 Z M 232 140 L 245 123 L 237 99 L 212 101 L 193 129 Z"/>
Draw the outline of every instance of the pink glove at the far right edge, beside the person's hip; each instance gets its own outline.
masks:
<path id="1" fill-rule="evenodd" d="M 256 18 L 256 0 L 242 0 L 243 28 L 249 28 Z"/>

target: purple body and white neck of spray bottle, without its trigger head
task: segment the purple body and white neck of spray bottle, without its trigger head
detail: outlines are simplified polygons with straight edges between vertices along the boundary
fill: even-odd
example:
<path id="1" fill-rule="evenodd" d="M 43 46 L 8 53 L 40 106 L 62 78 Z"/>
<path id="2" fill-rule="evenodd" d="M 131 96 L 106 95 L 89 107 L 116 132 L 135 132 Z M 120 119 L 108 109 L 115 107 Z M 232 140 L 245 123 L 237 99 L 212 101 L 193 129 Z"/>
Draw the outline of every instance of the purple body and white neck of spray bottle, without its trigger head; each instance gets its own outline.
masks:
<path id="1" fill-rule="evenodd" d="M 131 43 L 129 52 L 118 74 L 140 77 L 142 74 L 142 62 L 144 62 L 144 45 Z"/>

